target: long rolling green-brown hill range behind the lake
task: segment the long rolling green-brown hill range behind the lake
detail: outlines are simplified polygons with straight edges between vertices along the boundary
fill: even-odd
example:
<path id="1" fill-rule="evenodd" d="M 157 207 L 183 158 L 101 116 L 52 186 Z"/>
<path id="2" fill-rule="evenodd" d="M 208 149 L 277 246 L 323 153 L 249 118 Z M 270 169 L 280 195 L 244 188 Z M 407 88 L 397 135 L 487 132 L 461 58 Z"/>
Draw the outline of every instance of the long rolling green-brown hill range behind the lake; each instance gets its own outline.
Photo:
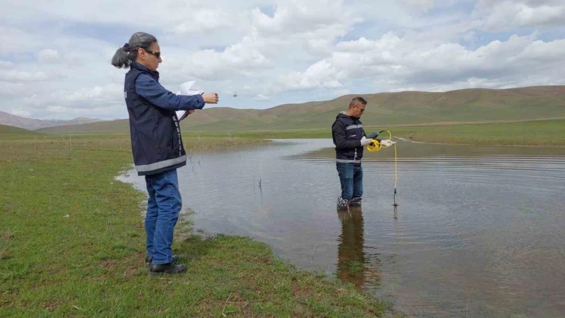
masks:
<path id="1" fill-rule="evenodd" d="M 227 107 L 194 112 L 181 126 L 185 132 L 236 132 L 327 128 L 355 95 L 331 101 L 284 104 L 266 110 Z M 565 86 L 516 89 L 462 89 L 443 93 L 362 94 L 368 105 L 363 124 L 372 126 L 519 121 L 565 117 Z M 46 133 L 128 133 L 128 121 L 116 120 L 38 129 Z"/>

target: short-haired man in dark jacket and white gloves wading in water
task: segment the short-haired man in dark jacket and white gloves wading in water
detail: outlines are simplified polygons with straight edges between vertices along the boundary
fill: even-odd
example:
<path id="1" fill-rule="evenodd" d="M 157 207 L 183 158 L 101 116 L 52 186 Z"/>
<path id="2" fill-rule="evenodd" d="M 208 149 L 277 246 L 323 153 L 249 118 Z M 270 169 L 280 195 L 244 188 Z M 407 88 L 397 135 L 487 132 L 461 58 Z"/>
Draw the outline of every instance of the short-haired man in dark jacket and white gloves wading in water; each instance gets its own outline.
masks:
<path id="1" fill-rule="evenodd" d="M 340 177 L 341 197 L 337 200 L 338 210 L 349 210 L 349 206 L 361 206 L 363 195 L 363 147 L 376 139 L 379 133 L 366 136 L 363 124 L 359 120 L 367 101 L 355 97 L 349 103 L 349 109 L 340 112 L 332 125 L 333 144 L 336 146 L 336 168 Z M 379 140 L 380 141 L 380 140 Z M 383 146 L 392 146 L 394 141 L 380 141 Z"/>

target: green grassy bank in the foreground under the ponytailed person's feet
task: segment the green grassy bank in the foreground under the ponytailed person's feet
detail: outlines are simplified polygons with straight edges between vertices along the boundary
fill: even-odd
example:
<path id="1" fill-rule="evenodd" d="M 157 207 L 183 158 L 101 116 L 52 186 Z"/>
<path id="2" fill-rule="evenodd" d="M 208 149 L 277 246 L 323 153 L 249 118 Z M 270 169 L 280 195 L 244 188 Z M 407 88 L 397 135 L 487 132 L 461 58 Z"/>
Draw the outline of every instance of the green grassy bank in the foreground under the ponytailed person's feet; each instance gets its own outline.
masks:
<path id="1" fill-rule="evenodd" d="M 264 141 L 185 143 L 190 152 Z M 129 137 L 11 137 L 0 147 L 0 316 L 400 316 L 245 237 L 177 231 L 188 271 L 150 279 L 145 195 L 114 179 L 131 167 Z"/>

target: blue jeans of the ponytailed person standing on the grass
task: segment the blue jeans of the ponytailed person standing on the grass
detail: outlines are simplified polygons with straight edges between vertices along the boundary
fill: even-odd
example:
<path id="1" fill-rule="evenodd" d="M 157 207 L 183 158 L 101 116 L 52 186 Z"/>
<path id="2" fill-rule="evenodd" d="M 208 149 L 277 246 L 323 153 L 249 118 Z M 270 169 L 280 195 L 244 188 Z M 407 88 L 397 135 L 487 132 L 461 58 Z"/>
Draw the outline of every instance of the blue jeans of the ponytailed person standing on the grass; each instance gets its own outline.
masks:
<path id="1" fill-rule="evenodd" d="M 173 229 L 179 220 L 182 199 L 176 169 L 145 176 L 147 192 L 147 256 L 153 256 L 153 264 L 172 262 Z"/>

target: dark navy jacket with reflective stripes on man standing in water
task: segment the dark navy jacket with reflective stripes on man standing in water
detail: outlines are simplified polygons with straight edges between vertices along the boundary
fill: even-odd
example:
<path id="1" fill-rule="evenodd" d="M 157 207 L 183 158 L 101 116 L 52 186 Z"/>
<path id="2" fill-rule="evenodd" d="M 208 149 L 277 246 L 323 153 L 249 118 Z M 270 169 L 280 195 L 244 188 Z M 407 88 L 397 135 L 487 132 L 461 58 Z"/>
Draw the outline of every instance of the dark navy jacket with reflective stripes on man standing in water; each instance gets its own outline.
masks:
<path id="1" fill-rule="evenodd" d="M 337 115 L 332 125 L 333 144 L 336 145 L 338 163 L 361 164 L 363 146 L 361 138 L 366 136 L 359 117 L 347 116 L 345 112 Z"/>

